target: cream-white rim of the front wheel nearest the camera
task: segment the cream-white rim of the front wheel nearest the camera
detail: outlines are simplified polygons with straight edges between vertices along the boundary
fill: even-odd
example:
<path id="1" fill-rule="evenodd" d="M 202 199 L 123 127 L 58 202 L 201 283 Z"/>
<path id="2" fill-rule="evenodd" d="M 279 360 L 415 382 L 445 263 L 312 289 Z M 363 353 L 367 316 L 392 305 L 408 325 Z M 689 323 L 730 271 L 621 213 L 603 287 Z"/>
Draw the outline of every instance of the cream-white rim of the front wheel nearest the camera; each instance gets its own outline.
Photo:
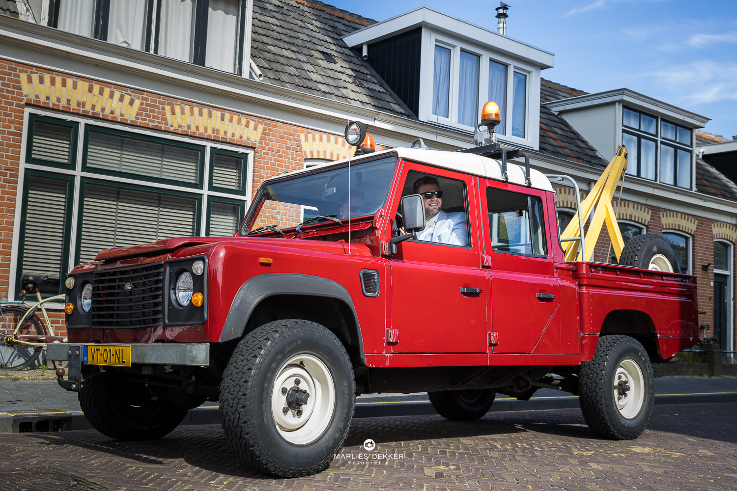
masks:
<path id="1" fill-rule="evenodd" d="M 286 393 L 283 389 L 287 389 Z M 290 394 L 301 391 L 309 394 L 307 402 L 296 405 L 292 397 L 290 404 Z M 314 442 L 329 425 L 334 409 L 335 384 L 321 359 L 298 355 L 282 365 L 271 390 L 271 414 L 282 438 L 296 445 Z"/>

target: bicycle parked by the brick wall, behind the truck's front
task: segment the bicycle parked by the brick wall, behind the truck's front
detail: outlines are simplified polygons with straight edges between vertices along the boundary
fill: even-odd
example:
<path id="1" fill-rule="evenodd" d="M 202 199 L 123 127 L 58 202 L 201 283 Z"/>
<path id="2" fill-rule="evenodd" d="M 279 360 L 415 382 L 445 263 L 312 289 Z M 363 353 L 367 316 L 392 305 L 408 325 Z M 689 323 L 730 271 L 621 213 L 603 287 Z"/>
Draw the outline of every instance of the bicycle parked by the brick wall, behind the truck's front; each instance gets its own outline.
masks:
<path id="1" fill-rule="evenodd" d="M 45 303 L 63 300 L 64 295 L 41 299 L 38 286 L 49 280 L 48 276 L 23 275 L 21 284 L 25 292 L 33 292 L 38 299 L 36 305 L 24 302 L 0 306 L 0 369 L 22 370 L 33 364 L 48 343 L 65 342 L 55 336 L 54 328 L 46 313 Z M 38 310 L 43 320 L 38 317 Z"/>

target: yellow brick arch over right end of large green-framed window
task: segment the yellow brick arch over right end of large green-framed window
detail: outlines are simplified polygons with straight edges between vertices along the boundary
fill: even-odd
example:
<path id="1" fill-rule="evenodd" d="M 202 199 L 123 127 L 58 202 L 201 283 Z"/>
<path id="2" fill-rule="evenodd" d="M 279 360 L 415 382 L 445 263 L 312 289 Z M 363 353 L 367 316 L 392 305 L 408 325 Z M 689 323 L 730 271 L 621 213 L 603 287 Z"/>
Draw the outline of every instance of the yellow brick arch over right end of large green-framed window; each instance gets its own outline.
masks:
<path id="1" fill-rule="evenodd" d="M 250 119 L 235 114 L 192 106 L 164 106 L 170 129 L 220 135 L 226 138 L 250 141 L 258 144 L 264 127 Z"/>

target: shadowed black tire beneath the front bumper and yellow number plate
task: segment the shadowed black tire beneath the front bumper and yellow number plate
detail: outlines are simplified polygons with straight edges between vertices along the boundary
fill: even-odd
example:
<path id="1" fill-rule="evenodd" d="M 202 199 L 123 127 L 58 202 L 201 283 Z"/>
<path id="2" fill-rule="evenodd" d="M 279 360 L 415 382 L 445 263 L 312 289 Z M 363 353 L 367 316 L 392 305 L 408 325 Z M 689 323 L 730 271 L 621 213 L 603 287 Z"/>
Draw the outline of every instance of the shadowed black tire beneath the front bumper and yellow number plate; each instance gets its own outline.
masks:
<path id="1" fill-rule="evenodd" d="M 97 431 L 125 441 L 164 437 L 186 416 L 186 409 L 161 398 L 154 400 L 144 384 L 121 381 L 112 368 L 80 384 L 77 398 Z"/>

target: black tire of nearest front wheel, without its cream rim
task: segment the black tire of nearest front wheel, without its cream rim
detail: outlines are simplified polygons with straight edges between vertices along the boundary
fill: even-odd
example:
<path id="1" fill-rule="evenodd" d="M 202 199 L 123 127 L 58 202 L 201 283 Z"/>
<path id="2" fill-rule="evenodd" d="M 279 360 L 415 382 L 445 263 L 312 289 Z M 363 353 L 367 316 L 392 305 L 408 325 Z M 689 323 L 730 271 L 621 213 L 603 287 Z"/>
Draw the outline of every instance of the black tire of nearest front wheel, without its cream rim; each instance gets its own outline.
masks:
<path id="1" fill-rule="evenodd" d="M 318 358 L 335 390 L 329 423 L 304 445 L 283 436 L 272 412 L 279 372 L 296 356 Z M 269 322 L 248 333 L 228 361 L 220 386 L 220 420 L 233 451 L 252 467 L 282 478 L 310 476 L 329 466 L 348 437 L 354 403 L 354 373 L 346 349 L 324 326 L 300 319 Z"/>

